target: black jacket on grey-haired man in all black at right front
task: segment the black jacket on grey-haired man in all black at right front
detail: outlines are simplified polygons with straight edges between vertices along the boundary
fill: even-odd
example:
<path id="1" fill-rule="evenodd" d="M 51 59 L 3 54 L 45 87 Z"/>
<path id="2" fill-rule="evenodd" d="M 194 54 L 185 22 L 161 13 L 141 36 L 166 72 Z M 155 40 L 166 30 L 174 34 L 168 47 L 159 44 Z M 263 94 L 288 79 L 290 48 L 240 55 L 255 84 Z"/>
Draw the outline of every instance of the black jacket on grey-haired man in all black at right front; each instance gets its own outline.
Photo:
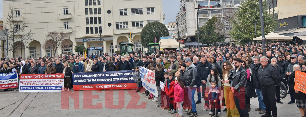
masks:
<path id="1" fill-rule="evenodd" d="M 276 69 L 269 64 L 265 68 L 260 65 L 256 73 L 258 73 L 257 79 L 263 88 L 275 86 L 281 80 Z"/>

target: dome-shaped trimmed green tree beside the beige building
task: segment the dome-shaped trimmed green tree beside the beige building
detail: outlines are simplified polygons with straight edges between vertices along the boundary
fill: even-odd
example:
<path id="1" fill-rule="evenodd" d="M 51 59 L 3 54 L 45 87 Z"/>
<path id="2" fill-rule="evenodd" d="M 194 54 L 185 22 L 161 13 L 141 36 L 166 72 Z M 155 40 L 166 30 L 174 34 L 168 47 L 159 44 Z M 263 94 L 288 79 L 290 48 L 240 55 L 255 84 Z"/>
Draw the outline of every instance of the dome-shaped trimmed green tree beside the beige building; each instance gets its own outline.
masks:
<path id="1" fill-rule="evenodd" d="M 151 22 L 145 25 L 140 33 L 141 46 L 145 46 L 148 43 L 154 43 L 155 37 L 156 42 L 158 42 L 158 31 L 160 37 L 170 36 L 167 27 L 161 22 Z"/>

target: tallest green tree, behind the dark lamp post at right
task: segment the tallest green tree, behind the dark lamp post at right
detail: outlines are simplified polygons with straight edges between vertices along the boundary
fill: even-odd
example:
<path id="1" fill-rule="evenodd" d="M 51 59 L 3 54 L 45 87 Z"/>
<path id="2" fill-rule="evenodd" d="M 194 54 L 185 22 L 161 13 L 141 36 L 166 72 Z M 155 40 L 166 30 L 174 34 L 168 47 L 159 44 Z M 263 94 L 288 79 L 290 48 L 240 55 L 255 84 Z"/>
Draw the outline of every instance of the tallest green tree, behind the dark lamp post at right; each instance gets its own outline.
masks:
<path id="1" fill-rule="evenodd" d="M 263 3 L 263 21 L 264 21 L 264 31 L 265 34 L 273 32 L 278 22 L 274 19 L 273 15 L 270 15 L 267 10 L 265 10 L 266 4 Z M 231 38 L 239 40 L 241 44 L 250 42 L 255 38 L 255 25 L 256 22 L 256 35 L 261 36 L 261 26 L 260 26 L 260 13 L 259 13 L 259 0 L 245 0 L 238 7 L 235 12 L 235 16 L 230 21 L 232 26 L 230 30 Z"/>

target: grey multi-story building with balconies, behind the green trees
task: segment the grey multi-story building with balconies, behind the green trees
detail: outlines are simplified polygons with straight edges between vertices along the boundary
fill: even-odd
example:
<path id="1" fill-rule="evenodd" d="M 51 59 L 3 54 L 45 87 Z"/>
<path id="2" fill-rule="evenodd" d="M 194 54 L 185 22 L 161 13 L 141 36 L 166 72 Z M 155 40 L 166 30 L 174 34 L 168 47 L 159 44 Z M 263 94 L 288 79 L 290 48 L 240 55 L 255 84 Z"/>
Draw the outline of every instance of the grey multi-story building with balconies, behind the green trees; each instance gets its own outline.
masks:
<path id="1" fill-rule="evenodd" d="M 186 46 L 197 45 L 195 38 L 197 10 L 195 8 L 200 8 L 198 14 L 199 27 L 201 27 L 212 16 L 222 17 L 224 13 L 233 13 L 242 2 L 244 0 L 181 0 L 180 11 L 176 15 L 176 20 L 179 21 L 180 39 L 184 40 Z M 225 27 L 225 30 L 228 29 Z M 230 42 L 228 35 L 226 35 L 226 42 Z"/>

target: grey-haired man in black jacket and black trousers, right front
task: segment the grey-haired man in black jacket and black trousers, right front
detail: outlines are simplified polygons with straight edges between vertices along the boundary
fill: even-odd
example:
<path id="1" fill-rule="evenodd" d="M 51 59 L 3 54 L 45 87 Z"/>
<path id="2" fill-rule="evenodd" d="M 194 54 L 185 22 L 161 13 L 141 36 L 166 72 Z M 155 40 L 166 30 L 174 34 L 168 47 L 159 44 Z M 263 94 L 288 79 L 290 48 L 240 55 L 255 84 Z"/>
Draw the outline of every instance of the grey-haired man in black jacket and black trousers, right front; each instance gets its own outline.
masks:
<path id="1" fill-rule="evenodd" d="M 260 57 L 261 66 L 258 69 L 257 78 L 261 85 L 261 92 L 263 93 L 263 103 L 266 106 L 266 114 L 262 117 L 277 117 L 277 107 L 275 100 L 275 83 L 280 81 L 280 77 L 275 68 L 268 65 L 267 57 Z"/>

